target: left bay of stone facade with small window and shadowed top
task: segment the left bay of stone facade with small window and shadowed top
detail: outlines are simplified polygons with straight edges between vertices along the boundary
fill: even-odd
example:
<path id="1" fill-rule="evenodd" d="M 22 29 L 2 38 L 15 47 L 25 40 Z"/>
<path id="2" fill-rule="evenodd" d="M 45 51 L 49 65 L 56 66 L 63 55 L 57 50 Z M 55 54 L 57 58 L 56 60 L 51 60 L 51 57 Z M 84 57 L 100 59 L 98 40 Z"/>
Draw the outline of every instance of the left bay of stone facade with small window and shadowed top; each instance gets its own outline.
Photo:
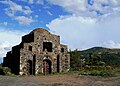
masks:
<path id="1" fill-rule="evenodd" d="M 33 62 L 34 57 L 34 33 L 27 34 L 22 37 L 22 48 L 20 49 L 20 75 L 29 74 L 28 61 Z"/>

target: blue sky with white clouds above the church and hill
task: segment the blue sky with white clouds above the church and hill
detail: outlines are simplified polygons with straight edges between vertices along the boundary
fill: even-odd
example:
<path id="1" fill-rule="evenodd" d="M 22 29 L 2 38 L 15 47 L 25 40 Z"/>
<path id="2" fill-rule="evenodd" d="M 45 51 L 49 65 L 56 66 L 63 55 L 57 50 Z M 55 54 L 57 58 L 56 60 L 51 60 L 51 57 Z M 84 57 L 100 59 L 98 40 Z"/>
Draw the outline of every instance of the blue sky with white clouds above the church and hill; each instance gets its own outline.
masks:
<path id="1" fill-rule="evenodd" d="M 120 48 L 120 0 L 0 0 L 0 62 L 38 27 L 71 50 Z"/>

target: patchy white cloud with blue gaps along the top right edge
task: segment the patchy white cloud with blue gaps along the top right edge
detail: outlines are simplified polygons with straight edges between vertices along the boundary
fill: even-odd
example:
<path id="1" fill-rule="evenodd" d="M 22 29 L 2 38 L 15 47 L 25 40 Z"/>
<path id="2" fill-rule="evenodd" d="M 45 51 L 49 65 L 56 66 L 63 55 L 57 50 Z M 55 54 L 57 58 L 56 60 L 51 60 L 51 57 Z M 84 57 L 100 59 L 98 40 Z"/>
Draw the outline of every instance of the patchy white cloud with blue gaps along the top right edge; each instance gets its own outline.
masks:
<path id="1" fill-rule="evenodd" d="M 91 0 L 92 5 L 88 4 L 88 0 L 47 0 L 51 4 L 61 6 L 67 12 L 82 16 L 96 17 L 113 13 L 114 8 L 120 7 L 120 0 Z M 117 12 L 117 11 L 116 11 Z"/>

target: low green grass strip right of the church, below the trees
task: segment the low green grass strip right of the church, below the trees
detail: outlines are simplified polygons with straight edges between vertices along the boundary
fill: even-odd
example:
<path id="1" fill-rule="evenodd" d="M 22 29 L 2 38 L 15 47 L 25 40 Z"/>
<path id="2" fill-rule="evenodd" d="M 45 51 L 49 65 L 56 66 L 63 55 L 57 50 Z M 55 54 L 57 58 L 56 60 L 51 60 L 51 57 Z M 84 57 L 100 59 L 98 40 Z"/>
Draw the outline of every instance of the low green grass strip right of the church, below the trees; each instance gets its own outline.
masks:
<path id="1" fill-rule="evenodd" d="M 78 75 L 91 75 L 91 76 L 102 76 L 102 77 L 110 77 L 115 76 L 116 74 L 120 74 L 120 70 L 115 70 L 112 67 L 105 66 L 89 66 L 83 69 L 79 69 L 77 71 L 70 71 L 70 73 L 78 74 Z"/>

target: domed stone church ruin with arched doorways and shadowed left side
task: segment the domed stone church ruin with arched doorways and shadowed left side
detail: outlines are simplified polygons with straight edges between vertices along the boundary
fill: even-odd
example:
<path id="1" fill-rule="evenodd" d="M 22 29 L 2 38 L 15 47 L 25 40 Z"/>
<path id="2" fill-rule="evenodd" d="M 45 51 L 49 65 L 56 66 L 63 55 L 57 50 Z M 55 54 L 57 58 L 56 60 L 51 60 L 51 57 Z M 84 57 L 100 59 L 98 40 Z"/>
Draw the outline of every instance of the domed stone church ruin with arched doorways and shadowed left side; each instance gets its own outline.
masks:
<path id="1" fill-rule="evenodd" d="M 70 55 L 67 46 L 60 44 L 60 36 L 37 28 L 7 52 L 3 66 L 17 75 L 64 72 L 70 69 Z"/>

